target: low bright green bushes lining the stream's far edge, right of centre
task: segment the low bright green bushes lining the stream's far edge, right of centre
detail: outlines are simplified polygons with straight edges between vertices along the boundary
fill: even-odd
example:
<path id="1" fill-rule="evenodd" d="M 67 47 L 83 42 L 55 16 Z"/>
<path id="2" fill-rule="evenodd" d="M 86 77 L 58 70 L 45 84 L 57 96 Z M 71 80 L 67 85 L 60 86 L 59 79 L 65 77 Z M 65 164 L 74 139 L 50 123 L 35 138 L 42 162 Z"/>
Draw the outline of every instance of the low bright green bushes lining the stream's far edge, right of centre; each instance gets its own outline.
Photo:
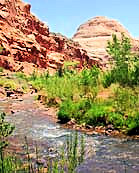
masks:
<path id="1" fill-rule="evenodd" d="M 136 112 L 139 112 L 138 95 L 138 88 L 133 90 L 117 86 L 114 96 L 108 100 L 67 100 L 61 104 L 58 118 L 64 123 L 73 118 L 77 123 L 91 126 L 112 124 L 115 129 L 128 133 L 139 125 L 138 114 L 136 115 Z"/>

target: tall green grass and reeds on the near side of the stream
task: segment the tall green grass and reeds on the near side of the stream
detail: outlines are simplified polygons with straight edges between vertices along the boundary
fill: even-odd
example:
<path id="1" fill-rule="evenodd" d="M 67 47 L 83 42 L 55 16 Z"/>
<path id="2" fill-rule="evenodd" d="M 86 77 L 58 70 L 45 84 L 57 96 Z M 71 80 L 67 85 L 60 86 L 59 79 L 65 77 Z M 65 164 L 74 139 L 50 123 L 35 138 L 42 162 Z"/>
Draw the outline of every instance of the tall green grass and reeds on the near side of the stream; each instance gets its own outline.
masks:
<path id="1" fill-rule="evenodd" d="M 75 168 L 79 166 L 85 155 L 85 142 L 84 136 L 78 136 L 75 132 L 73 135 L 67 136 L 66 142 L 59 151 L 59 155 L 55 158 L 46 156 L 46 165 L 39 163 L 38 146 L 35 146 L 36 158 L 31 159 L 30 148 L 27 137 L 25 137 L 25 151 L 26 160 L 22 157 L 17 157 L 15 154 L 7 152 L 8 146 L 7 137 L 12 134 L 14 126 L 5 122 L 5 113 L 0 114 L 0 172 L 1 173 L 12 173 L 12 172 L 24 172 L 24 173 L 41 173 L 47 169 L 48 173 L 56 172 L 69 172 L 75 173 Z M 19 155 L 19 154 L 18 154 Z M 46 172 L 46 171 L 45 171 Z"/>

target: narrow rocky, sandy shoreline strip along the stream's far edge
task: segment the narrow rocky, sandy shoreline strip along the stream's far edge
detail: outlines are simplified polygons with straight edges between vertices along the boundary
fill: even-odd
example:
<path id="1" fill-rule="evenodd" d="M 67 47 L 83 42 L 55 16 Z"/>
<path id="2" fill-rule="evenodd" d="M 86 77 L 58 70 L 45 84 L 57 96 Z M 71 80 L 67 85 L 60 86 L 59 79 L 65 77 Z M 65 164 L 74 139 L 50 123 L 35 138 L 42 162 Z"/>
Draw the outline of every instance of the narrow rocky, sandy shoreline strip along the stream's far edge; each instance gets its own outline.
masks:
<path id="1" fill-rule="evenodd" d="M 1 91 L 3 91 L 3 89 L 1 89 Z M 8 91 L 8 94 L 9 93 L 10 93 L 10 91 Z M 25 107 L 21 106 L 22 105 L 21 102 L 28 97 L 34 97 L 34 104 L 36 105 L 36 109 L 42 109 L 45 114 L 44 116 L 47 116 L 54 123 L 57 123 L 57 122 L 60 123 L 61 126 L 65 129 L 77 130 L 77 131 L 86 133 L 88 135 L 103 134 L 106 136 L 112 136 L 112 137 L 118 137 L 118 138 L 139 139 L 139 135 L 131 135 L 131 136 L 125 135 L 122 132 L 120 132 L 119 130 L 115 129 L 112 124 L 107 125 L 107 126 L 93 127 L 93 126 L 89 126 L 89 125 L 85 125 L 85 124 L 79 125 L 74 119 L 63 124 L 58 120 L 58 117 L 57 117 L 58 108 L 47 107 L 47 105 L 45 103 L 43 103 L 43 99 L 35 100 L 35 97 L 37 97 L 37 93 L 32 88 L 30 88 L 29 93 L 26 93 L 26 94 L 23 94 L 22 92 L 19 92 L 19 91 L 11 92 L 8 97 L 3 94 L 2 97 L 0 98 L 0 100 L 1 101 L 17 100 L 18 103 L 12 105 L 12 107 L 9 107 L 6 110 L 6 112 L 8 114 L 14 114 L 15 112 L 18 112 L 21 109 L 22 110 L 26 109 L 26 106 Z"/>

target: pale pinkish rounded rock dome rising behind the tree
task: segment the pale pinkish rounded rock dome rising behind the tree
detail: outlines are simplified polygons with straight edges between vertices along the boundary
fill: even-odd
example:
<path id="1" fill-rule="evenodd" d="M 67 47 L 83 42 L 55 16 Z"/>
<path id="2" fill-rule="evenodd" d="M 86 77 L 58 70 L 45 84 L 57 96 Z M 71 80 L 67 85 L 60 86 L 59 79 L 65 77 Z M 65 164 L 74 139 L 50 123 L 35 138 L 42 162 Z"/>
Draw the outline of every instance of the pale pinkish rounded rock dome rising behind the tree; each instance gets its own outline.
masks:
<path id="1" fill-rule="evenodd" d="M 106 52 L 107 42 L 111 40 L 112 34 L 121 37 L 121 33 L 131 39 L 134 47 L 138 47 L 138 40 L 134 40 L 119 22 L 107 17 L 95 17 L 80 25 L 73 40 L 79 42 L 89 56 L 98 59 L 105 66 L 109 60 Z"/>

